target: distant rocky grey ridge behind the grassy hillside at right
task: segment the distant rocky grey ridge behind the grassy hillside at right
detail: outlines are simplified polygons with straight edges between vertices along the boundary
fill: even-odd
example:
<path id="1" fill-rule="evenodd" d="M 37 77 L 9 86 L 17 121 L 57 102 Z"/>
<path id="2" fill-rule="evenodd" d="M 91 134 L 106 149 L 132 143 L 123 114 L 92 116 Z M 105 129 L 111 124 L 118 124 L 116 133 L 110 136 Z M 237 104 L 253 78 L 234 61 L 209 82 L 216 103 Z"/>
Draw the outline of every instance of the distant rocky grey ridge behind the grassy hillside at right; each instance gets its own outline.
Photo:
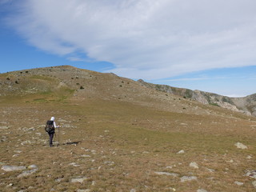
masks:
<path id="1" fill-rule="evenodd" d="M 138 80 L 143 86 L 152 88 L 154 90 L 174 94 L 183 98 L 192 99 L 203 104 L 213 106 L 221 106 L 228 110 L 242 112 L 247 115 L 256 116 L 256 94 L 251 94 L 244 98 L 230 98 L 219 94 L 204 92 L 201 90 L 189 90 L 183 88 L 176 88 L 173 86 L 158 85 L 149 82 L 144 82 L 142 79 Z"/>

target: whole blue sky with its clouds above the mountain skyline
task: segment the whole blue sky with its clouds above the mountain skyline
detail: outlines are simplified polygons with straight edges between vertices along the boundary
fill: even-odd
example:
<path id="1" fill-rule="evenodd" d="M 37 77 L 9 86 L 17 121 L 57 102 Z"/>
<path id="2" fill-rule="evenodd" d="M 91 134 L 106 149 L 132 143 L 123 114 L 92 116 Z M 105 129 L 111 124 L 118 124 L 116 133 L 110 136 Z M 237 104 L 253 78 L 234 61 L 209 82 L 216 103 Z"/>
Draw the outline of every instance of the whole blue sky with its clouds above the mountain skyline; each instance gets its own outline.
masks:
<path id="1" fill-rule="evenodd" d="M 255 0 L 0 0 L 0 73 L 70 65 L 256 93 Z"/>

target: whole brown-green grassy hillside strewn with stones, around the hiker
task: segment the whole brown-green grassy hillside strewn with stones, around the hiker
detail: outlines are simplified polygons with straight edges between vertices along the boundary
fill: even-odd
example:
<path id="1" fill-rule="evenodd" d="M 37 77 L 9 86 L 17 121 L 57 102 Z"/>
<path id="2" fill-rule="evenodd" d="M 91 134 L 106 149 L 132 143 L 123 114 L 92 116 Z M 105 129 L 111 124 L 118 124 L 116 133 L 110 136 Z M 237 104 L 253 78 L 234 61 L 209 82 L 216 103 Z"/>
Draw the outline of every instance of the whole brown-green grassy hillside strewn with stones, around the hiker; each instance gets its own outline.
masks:
<path id="1" fill-rule="evenodd" d="M 0 87 L 3 192 L 256 189 L 252 116 L 72 66 L 0 74 Z"/>

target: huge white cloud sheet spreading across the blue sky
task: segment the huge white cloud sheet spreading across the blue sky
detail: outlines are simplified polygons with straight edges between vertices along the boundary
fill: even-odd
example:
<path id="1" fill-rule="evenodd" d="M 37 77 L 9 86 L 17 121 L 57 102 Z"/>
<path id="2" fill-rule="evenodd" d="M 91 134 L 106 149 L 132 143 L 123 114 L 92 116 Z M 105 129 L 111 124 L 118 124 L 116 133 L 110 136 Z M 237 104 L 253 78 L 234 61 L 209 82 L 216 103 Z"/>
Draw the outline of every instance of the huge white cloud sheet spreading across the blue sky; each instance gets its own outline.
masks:
<path id="1" fill-rule="evenodd" d="M 256 64 L 254 0 L 19 3 L 8 21 L 31 45 L 64 56 L 83 52 L 128 78 Z"/>

